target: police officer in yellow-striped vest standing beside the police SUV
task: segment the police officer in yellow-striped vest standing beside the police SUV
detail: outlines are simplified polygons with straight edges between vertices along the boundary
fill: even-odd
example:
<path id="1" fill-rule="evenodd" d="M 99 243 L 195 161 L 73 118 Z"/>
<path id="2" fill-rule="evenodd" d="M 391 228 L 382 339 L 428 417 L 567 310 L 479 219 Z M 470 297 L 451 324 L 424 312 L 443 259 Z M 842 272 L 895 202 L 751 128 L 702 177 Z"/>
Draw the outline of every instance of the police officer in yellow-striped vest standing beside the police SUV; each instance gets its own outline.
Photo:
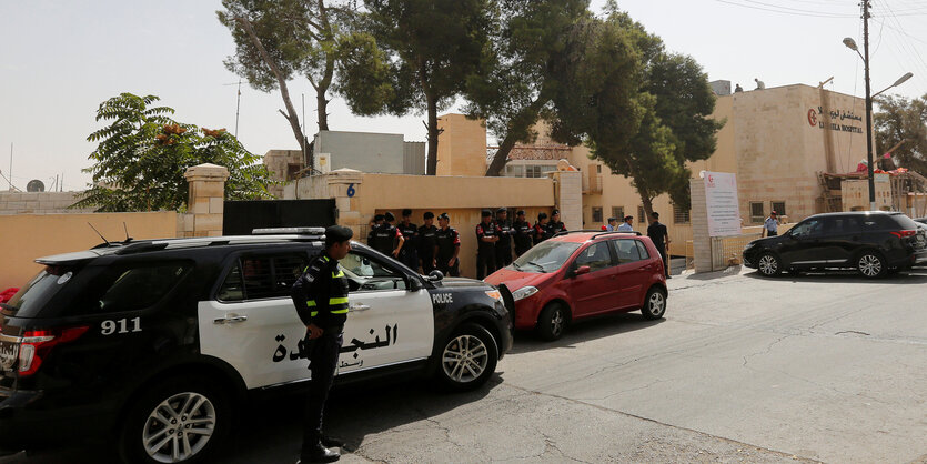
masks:
<path id="1" fill-rule="evenodd" d="M 341 455 L 322 444 L 322 415 L 337 366 L 344 322 L 347 320 L 347 279 L 339 260 L 351 251 L 351 229 L 332 225 L 325 229 L 325 251 L 315 256 L 291 291 L 296 314 L 305 325 L 309 352 L 309 400 L 301 461 L 331 463 Z"/>

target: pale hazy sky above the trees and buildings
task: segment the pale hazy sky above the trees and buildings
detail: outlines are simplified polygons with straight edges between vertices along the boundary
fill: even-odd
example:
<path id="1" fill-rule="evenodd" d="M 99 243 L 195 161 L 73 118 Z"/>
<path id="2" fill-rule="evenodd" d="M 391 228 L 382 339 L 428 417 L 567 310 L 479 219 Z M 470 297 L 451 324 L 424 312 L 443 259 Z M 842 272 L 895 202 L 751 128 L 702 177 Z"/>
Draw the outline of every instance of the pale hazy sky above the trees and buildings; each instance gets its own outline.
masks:
<path id="1" fill-rule="evenodd" d="M 592 0 L 601 11 L 606 0 Z M 905 72 L 915 75 L 887 93 L 927 94 L 927 0 L 871 0 L 873 92 Z M 863 47 L 858 0 L 624 0 L 618 7 L 663 38 L 667 49 L 689 54 L 709 80 L 750 90 L 817 85 L 864 95 L 860 58 L 842 40 Z M 0 0 L 0 173 L 19 189 L 32 179 L 47 188 L 63 175 L 64 190 L 82 190 L 100 129 L 98 105 L 121 92 L 154 94 L 179 121 L 235 131 L 239 78 L 222 61 L 234 52 L 231 34 L 215 18 L 219 0 Z M 304 79 L 290 83 L 298 111 L 305 95 L 308 132 L 315 131 L 314 92 Z M 238 135 L 250 151 L 293 149 L 289 124 L 278 113 L 279 92 L 242 84 Z M 453 111 L 454 108 L 446 112 Z M 332 130 L 402 133 L 424 141 L 422 115 L 360 118 L 335 98 Z M 491 142 L 493 142 L 491 140 Z M 0 179 L 0 189 L 7 189 Z"/>

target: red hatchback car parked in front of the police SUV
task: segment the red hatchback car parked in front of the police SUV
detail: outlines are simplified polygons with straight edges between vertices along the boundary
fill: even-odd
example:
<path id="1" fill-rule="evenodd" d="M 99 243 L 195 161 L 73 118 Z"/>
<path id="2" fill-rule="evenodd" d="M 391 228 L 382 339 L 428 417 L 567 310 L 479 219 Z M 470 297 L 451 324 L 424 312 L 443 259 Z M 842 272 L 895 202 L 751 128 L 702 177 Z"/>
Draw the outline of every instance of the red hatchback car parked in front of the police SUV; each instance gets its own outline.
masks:
<path id="1" fill-rule="evenodd" d="M 663 261 L 639 233 L 575 231 L 538 243 L 485 279 L 515 299 L 515 329 L 557 340 L 572 321 L 641 310 L 666 312 Z"/>

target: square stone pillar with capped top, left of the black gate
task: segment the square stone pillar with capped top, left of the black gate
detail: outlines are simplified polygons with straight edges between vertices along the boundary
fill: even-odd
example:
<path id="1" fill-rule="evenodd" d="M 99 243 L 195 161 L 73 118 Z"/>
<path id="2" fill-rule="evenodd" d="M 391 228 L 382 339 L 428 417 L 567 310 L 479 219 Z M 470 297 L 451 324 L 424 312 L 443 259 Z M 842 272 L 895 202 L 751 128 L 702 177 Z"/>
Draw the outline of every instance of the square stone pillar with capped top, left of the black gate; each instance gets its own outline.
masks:
<path id="1" fill-rule="evenodd" d="M 190 184 L 185 218 L 182 218 L 183 236 L 222 235 L 222 208 L 225 201 L 225 181 L 229 170 L 215 164 L 199 164 L 183 173 Z"/>

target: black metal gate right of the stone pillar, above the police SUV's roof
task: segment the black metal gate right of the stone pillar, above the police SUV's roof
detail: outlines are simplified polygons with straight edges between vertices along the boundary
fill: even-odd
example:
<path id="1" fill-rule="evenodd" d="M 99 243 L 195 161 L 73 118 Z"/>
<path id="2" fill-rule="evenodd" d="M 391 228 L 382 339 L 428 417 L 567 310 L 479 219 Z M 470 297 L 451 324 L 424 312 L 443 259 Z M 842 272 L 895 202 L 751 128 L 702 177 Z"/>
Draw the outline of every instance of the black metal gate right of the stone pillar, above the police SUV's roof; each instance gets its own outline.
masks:
<path id="1" fill-rule="evenodd" d="M 226 201 L 224 235 L 251 235 L 261 228 L 326 228 L 337 221 L 334 199 Z"/>

